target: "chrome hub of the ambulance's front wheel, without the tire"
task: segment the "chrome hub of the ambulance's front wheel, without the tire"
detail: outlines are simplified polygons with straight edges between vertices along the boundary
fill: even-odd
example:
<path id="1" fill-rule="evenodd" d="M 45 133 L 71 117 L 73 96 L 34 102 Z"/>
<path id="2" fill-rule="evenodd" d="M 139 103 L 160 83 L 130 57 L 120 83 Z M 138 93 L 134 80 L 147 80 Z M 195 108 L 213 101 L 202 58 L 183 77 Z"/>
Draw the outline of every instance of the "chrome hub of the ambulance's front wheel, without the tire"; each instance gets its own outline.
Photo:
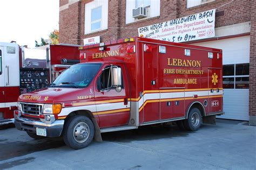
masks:
<path id="1" fill-rule="evenodd" d="M 89 126 L 85 122 L 79 122 L 73 130 L 73 138 L 78 143 L 83 143 L 90 134 Z"/>

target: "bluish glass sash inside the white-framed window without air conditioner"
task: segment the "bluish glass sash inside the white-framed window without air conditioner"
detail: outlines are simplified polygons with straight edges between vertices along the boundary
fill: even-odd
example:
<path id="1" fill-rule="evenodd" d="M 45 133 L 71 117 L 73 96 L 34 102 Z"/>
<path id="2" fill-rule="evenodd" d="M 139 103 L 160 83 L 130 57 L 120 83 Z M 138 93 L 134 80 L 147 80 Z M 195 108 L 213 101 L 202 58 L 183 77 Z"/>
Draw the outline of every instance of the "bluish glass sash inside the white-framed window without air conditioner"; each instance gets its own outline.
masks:
<path id="1" fill-rule="evenodd" d="M 100 30 L 102 25 L 102 6 L 91 10 L 91 31 Z"/>

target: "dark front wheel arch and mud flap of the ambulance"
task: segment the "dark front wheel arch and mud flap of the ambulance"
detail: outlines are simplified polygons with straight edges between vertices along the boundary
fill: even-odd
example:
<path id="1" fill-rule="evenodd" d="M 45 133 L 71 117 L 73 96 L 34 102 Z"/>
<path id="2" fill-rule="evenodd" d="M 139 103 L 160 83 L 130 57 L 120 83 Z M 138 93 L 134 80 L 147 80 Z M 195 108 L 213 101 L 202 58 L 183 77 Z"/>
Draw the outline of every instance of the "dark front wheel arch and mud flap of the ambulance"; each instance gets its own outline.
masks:
<path id="1" fill-rule="evenodd" d="M 89 110 L 77 110 L 77 111 L 73 111 L 71 112 L 66 118 L 65 118 L 65 123 L 66 121 L 68 121 L 68 119 L 72 116 L 76 116 L 76 115 L 82 115 L 82 116 L 86 116 L 88 118 L 91 119 L 93 125 L 94 125 L 94 128 L 95 128 L 95 140 L 96 141 L 102 141 L 102 135 L 100 133 L 100 129 L 99 129 L 99 125 L 95 119 L 95 117 L 93 116 L 92 112 L 89 111 Z M 64 123 L 64 125 L 65 125 Z"/>

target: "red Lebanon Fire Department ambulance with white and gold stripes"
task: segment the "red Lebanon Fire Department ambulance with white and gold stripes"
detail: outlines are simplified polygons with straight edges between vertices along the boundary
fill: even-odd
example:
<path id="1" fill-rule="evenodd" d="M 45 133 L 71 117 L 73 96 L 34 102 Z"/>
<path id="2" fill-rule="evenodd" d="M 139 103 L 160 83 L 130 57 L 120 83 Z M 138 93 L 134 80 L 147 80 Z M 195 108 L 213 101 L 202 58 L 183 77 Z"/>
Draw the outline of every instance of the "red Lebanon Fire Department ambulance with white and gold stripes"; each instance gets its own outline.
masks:
<path id="1" fill-rule="evenodd" d="M 223 114 L 221 49 L 135 37 L 80 47 L 80 62 L 19 96 L 17 129 L 79 149 L 103 132 L 171 121 L 196 131 Z"/>

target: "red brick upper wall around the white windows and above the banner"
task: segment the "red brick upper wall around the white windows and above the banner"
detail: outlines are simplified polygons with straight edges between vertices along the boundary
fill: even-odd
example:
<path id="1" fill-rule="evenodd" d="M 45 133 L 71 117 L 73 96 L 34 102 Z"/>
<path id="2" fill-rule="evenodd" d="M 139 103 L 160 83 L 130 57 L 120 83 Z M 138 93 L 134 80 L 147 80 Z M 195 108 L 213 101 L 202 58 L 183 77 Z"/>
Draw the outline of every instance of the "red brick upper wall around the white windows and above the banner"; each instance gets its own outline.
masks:
<path id="1" fill-rule="evenodd" d="M 60 42 L 83 44 L 84 38 L 100 36 L 101 41 L 138 36 L 138 27 L 160 23 L 167 20 L 192 15 L 210 9 L 216 10 L 215 27 L 244 23 L 250 21 L 251 2 L 247 0 L 231 1 L 216 0 L 192 8 L 186 8 L 184 0 L 161 0 L 160 16 L 125 24 L 126 1 L 109 0 L 108 29 L 91 34 L 84 34 L 85 4 L 92 0 L 84 0 L 69 6 L 69 9 L 60 11 L 59 31 Z M 60 4 L 68 0 L 60 0 Z M 78 6 L 79 5 L 79 6 Z M 78 12 L 80 10 L 80 12 Z M 77 21 L 78 20 L 78 21 Z M 78 25 L 75 25 L 79 23 Z M 78 34 L 78 35 L 76 35 Z"/>

